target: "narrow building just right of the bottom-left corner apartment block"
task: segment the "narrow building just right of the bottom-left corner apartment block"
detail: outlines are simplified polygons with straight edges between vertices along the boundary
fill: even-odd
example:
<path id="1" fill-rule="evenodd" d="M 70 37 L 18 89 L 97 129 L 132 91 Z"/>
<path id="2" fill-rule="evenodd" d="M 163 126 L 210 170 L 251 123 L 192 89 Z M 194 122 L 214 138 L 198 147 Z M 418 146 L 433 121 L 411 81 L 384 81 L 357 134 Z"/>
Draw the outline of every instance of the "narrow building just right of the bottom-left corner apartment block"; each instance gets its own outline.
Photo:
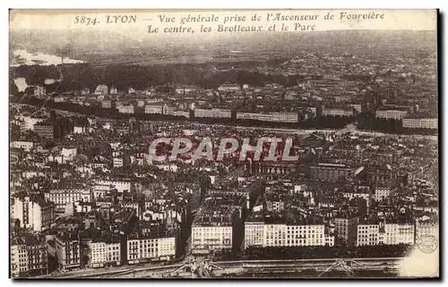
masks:
<path id="1" fill-rule="evenodd" d="M 81 265 L 80 241 L 76 232 L 61 232 L 55 237 L 58 269 L 65 272 Z"/>

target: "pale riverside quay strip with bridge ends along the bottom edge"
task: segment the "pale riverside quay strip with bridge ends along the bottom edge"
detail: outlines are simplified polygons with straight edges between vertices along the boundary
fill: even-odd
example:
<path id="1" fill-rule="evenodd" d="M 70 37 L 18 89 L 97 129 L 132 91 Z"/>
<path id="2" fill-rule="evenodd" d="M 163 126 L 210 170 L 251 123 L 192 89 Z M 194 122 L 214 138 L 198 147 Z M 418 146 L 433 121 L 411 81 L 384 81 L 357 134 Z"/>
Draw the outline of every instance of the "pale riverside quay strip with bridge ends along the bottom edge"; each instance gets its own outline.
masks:
<path id="1" fill-rule="evenodd" d="M 402 259 L 402 257 L 380 257 L 211 262 L 202 258 L 169 266 L 126 266 L 129 268 L 114 271 L 99 269 L 98 272 L 90 274 L 63 274 L 52 276 L 52 278 L 212 278 L 227 277 L 229 274 L 247 277 L 247 274 L 268 274 L 269 276 L 275 273 L 300 274 L 303 272 L 311 272 L 315 274 L 315 277 L 325 277 L 333 271 L 345 273 L 348 277 L 356 277 L 357 272 L 369 271 L 396 275 Z"/>

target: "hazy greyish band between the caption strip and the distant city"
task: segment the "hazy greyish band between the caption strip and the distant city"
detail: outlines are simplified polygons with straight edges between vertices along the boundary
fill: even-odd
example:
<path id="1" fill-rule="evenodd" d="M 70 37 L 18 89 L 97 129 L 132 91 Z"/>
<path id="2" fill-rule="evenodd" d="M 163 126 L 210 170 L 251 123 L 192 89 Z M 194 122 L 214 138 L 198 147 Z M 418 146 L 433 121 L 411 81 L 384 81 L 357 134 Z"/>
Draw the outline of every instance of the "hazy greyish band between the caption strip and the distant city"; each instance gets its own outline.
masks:
<path id="1" fill-rule="evenodd" d="M 195 37 L 197 36 L 198 37 Z M 325 35 L 322 37 L 321 35 Z M 212 33 L 208 37 L 199 37 L 194 34 L 190 38 L 139 38 L 133 35 L 124 35 L 116 31 L 106 31 L 99 34 L 94 30 L 71 30 L 65 33 L 61 30 L 12 30 L 10 31 L 10 48 L 27 49 L 34 51 L 48 51 L 64 46 L 71 46 L 77 53 L 95 52 L 116 53 L 122 51 L 145 51 L 147 49 L 185 48 L 199 50 L 202 53 L 212 52 L 218 48 L 222 50 L 267 50 L 273 47 L 291 49 L 297 45 L 415 45 L 436 48 L 437 33 L 434 30 L 326 30 L 296 33 L 270 33 L 256 34 L 240 33 L 235 37 L 229 34 Z M 147 51 L 150 51 L 147 50 Z M 82 52 L 83 51 L 83 52 Z"/>

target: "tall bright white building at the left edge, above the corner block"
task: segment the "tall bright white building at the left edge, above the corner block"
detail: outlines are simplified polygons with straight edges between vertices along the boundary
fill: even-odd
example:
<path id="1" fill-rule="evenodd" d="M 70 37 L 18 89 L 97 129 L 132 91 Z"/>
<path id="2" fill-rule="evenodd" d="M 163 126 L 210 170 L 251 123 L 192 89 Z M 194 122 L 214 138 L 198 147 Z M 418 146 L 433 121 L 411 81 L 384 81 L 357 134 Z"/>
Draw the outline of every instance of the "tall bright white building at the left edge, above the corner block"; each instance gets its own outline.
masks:
<path id="1" fill-rule="evenodd" d="M 11 217 L 19 219 L 23 228 L 42 232 L 55 221 L 55 204 L 41 198 L 12 198 Z"/>

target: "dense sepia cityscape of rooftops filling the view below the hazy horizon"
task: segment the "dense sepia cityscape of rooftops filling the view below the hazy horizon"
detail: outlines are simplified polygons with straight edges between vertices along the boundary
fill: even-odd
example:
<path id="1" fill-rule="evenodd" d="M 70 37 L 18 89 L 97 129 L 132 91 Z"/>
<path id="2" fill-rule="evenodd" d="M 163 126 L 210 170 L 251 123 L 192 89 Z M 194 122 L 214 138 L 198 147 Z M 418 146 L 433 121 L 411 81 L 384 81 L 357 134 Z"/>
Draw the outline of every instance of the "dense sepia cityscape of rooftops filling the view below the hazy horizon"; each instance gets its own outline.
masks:
<path id="1" fill-rule="evenodd" d="M 396 276 L 395 258 L 439 239 L 437 72 L 435 51 L 383 49 L 253 62 L 232 51 L 224 63 L 167 65 L 161 73 L 177 76 L 157 79 L 139 65 L 11 67 L 12 277 L 292 268 L 260 263 L 270 260 L 325 276 L 335 258 L 344 276 Z M 155 161 L 159 138 L 193 149 Z M 290 138 L 297 161 L 263 160 L 268 140 L 261 160 L 249 151 L 239 161 L 241 148 L 194 158 L 206 138 L 214 154 L 223 138 Z"/>

